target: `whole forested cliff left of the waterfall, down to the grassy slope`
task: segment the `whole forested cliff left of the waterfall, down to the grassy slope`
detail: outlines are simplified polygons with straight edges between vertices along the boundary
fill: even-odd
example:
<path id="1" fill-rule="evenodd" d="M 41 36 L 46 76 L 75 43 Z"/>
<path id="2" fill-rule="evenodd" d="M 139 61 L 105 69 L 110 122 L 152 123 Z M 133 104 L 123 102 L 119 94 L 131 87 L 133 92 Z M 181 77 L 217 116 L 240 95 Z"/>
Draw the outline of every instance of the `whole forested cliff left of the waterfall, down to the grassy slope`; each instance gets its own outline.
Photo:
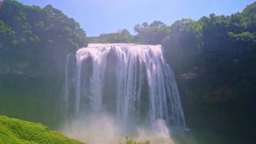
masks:
<path id="1" fill-rule="evenodd" d="M 85 46 L 85 31 L 61 10 L 4 0 L 0 4 L 0 114 L 55 126 L 66 55 Z"/>

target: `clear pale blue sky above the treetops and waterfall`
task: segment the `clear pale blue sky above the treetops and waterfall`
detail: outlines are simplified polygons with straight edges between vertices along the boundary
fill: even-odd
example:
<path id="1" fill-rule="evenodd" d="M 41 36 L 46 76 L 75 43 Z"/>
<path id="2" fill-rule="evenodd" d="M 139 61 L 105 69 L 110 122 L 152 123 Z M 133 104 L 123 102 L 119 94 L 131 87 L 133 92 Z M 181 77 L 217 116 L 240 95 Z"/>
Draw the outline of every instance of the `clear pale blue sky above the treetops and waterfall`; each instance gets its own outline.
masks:
<path id="1" fill-rule="evenodd" d="M 160 20 L 171 25 L 181 18 L 197 20 L 202 16 L 241 12 L 255 0 L 18 0 L 23 4 L 47 4 L 76 19 L 87 36 L 117 32 L 126 28 L 133 34 L 136 24 Z"/>

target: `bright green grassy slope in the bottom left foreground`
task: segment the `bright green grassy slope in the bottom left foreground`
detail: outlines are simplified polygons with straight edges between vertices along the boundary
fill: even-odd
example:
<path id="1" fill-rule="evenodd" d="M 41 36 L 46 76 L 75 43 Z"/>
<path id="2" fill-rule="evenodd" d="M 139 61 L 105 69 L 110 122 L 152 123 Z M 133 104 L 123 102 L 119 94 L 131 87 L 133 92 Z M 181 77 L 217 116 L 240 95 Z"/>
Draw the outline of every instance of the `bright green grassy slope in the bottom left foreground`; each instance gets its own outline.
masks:
<path id="1" fill-rule="evenodd" d="M 0 144 L 83 144 L 38 124 L 0 116 Z"/>

